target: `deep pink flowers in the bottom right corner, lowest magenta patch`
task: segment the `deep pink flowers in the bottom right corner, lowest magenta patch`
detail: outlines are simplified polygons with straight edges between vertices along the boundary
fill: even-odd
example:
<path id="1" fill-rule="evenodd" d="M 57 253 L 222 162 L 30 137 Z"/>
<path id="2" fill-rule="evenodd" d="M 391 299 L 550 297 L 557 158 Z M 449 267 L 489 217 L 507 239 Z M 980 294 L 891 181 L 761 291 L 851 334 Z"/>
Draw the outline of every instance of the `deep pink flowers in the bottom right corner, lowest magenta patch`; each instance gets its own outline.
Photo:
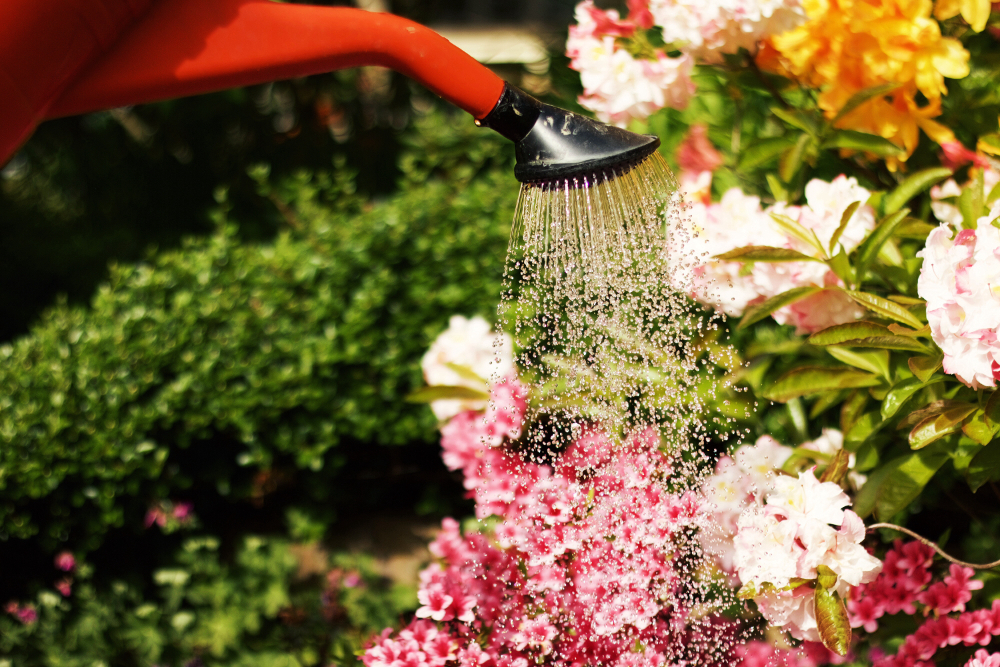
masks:
<path id="1" fill-rule="evenodd" d="M 934 667 L 934 654 L 949 646 L 986 646 L 994 637 L 1000 636 L 1000 600 L 994 600 L 992 607 L 968 611 L 958 616 L 929 618 L 903 640 L 903 645 L 895 655 L 885 656 L 875 661 L 874 667 Z M 979 664 L 994 665 L 1000 654 L 989 655 L 978 651 L 967 663 L 967 667 Z"/>

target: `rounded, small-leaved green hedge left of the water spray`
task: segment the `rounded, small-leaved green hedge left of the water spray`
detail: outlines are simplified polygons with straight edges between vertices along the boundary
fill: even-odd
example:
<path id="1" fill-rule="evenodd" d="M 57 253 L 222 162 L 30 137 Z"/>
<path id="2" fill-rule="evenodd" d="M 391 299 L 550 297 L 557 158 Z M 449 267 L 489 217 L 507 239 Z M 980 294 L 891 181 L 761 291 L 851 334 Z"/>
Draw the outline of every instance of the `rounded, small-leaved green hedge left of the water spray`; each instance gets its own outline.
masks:
<path id="1" fill-rule="evenodd" d="M 214 236 L 112 267 L 89 309 L 58 305 L 0 347 L 0 538 L 95 547 L 190 484 L 177 448 L 199 473 L 195 447 L 219 442 L 234 465 L 318 470 L 345 438 L 432 439 L 402 397 L 450 315 L 492 315 L 517 192 L 509 149 L 467 125 L 418 125 L 378 203 L 343 171 L 272 188 L 258 170 L 288 222 L 273 242 L 241 243 L 220 193 Z M 223 488 L 232 468 L 212 474 Z"/>

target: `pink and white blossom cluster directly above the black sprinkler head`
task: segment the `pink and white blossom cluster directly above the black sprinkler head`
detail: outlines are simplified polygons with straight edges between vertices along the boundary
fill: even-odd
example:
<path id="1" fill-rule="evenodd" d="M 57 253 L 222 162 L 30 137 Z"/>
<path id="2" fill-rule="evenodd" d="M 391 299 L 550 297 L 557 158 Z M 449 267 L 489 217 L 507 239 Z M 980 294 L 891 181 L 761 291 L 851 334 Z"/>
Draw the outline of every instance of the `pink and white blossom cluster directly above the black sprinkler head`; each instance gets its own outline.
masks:
<path id="1" fill-rule="evenodd" d="M 646 2 L 633 0 L 629 7 L 628 19 L 621 20 L 617 11 L 603 11 L 593 0 L 584 0 L 576 7 L 576 25 L 570 26 L 566 41 L 570 67 L 580 72 L 583 83 L 580 104 L 621 127 L 664 107 L 684 109 L 695 90 L 691 56 L 671 58 L 662 49 L 651 49 L 650 57 L 636 57 L 622 43 L 653 25 Z"/>

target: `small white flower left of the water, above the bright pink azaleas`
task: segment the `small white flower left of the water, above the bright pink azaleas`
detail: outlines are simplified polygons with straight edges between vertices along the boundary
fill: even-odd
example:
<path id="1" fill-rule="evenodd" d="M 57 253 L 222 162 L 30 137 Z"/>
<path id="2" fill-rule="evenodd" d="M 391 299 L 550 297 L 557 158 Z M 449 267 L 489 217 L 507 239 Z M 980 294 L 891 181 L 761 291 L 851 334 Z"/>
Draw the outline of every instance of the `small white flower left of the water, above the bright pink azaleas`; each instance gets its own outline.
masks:
<path id="1" fill-rule="evenodd" d="M 467 319 L 454 315 L 448 328 L 438 336 L 424 355 L 420 366 L 431 386 L 457 386 L 488 393 L 491 383 L 507 377 L 514 370 L 513 348 L 507 334 L 497 335 L 482 317 Z M 466 372 L 454 368 L 462 367 Z M 477 378 L 471 378 L 468 374 Z M 482 410 L 486 399 L 443 399 L 431 403 L 441 421 L 466 410 Z"/>

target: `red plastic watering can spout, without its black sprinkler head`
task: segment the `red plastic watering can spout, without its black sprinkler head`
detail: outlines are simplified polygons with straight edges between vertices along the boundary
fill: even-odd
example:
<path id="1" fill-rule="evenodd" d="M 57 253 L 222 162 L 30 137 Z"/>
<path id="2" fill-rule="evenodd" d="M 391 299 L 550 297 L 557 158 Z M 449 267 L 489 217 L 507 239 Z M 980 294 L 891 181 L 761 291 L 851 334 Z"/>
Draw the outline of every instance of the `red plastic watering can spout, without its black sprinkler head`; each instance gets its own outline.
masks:
<path id="1" fill-rule="evenodd" d="M 0 110 L 0 164 L 48 118 L 361 65 L 405 74 L 477 119 L 489 114 L 504 88 L 502 79 L 434 31 L 346 7 L 269 0 L 6 0 L 0 3 L 3 25 L 0 98 L 13 102 Z M 55 26 L 59 33 L 42 40 L 44 46 L 37 33 L 4 34 L 18 25 Z M 30 55 L 18 53 L 20 47 Z"/>

